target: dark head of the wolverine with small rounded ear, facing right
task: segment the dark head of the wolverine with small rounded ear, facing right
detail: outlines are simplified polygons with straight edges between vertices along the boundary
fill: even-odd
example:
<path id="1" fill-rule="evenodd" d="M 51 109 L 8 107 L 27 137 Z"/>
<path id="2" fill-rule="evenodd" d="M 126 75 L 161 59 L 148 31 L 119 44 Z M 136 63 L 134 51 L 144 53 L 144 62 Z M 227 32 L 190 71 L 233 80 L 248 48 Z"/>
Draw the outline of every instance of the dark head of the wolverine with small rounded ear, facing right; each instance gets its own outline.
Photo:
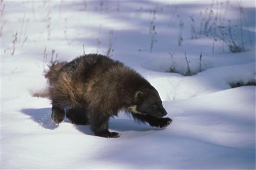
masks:
<path id="1" fill-rule="evenodd" d="M 167 114 L 157 90 L 153 87 L 136 91 L 134 105 L 129 109 L 133 113 L 148 114 L 155 117 L 163 117 Z"/>

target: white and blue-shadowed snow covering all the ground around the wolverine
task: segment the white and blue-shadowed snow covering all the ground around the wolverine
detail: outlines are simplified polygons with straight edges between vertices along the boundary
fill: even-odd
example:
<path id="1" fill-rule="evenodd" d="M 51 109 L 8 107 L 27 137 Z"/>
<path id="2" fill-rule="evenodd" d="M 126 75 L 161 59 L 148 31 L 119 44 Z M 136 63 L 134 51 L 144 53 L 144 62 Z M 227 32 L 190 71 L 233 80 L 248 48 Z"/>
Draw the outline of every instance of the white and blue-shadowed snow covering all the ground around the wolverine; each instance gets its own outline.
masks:
<path id="1" fill-rule="evenodd" d="M 241 1 L 245 51 L 229 53 L 218 39 L 213 54 L 213 38 L 199 34 L 200 11 L 212 2 L 241 42 L 236 1 L 225 15 L 221 0 L 1 1 L 0 169 L 255 169 L 255 86 L 230 86 L 256 79 L 255 1 Z M 154 9 L 157 42 L 150 53 Z M 191 39 L 190 17 L 198 39 Z M 105 139 L 68 119 L 55 125 L 49 99 L 32 97 L 47 87 L 52 50 L 53 59 L 70 61 L 108 48 L 158 90 L 171 125 L 150 127 L 121 111 L 109 125 L 121 137 Z M 183 76 L 185 51 L 192 76 Z M 177 73 L 169 73 L 173 63 Z"/>

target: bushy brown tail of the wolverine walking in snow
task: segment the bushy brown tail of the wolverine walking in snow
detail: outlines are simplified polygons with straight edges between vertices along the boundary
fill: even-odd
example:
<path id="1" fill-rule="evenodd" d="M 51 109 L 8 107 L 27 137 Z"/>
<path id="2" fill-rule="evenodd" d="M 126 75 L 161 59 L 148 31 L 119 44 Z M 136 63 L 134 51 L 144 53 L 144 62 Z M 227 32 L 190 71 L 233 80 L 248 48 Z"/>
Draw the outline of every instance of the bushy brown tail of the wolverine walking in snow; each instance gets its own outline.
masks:
<path id="1" fill-rule="evenodd" d="M 49 71 L 46 72 L 44 77 L 48 79 L 49 85 L 52 85 L 56 81 L 58 72 L 66 64 L 67 62 L 54 61 L 54 62 L 51 62 L 50 65 L 48 65 Z"/>

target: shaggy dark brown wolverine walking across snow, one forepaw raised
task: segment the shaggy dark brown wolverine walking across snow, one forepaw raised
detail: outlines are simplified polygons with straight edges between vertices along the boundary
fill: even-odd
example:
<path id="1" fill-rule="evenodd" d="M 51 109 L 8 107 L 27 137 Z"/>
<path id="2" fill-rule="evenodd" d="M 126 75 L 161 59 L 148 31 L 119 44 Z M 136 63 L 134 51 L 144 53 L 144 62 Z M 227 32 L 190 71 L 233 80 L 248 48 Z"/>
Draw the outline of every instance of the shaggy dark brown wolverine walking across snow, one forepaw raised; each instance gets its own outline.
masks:
<path id="1" fill-rule="evenodd" d="M 65 116 L 74 124 L 90 125 L 96 136 L 117 138 L 108 130 L 108 120 L 120 110 L 135 120 L 166 127 L 166 116 L 157 90 L 140 74 L 101 54 L 85 54 L 71 62 L 52 62 L 45 74 L 52 100 L 52 121 Z"/>

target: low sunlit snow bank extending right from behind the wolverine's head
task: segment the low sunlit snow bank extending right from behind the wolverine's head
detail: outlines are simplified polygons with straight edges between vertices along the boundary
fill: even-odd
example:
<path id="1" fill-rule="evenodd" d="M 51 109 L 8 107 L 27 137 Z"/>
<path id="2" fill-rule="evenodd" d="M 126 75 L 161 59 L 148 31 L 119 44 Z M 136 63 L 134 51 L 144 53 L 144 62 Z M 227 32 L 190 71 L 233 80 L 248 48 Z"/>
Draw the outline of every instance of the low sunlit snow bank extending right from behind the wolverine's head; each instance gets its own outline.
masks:
<path id="1" fill-rule="evenodd" d="M 231 88 L 230 84 L 255 82 L 255 64 L 230 65 L 210 68 L 191 77 L 176 76 L 172 73 L 145 76 L 158 90 L 163 101 L 188 99 L 201 94 Z"/>

